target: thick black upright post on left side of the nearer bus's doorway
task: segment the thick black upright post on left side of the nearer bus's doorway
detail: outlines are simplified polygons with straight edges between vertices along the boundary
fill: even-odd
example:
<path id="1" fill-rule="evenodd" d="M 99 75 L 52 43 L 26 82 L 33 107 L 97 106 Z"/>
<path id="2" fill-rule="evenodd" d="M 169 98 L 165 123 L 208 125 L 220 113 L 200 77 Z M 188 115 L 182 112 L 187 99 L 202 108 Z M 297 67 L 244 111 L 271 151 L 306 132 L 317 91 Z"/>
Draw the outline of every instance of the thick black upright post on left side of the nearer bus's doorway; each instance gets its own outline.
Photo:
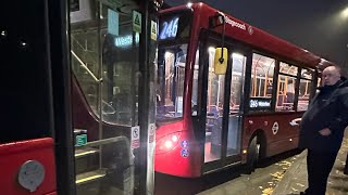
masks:
<path id="1" fill-rule="evenodd" d="M 74 195 L 69 1 L 48 1 L 58 194 Z"/>

